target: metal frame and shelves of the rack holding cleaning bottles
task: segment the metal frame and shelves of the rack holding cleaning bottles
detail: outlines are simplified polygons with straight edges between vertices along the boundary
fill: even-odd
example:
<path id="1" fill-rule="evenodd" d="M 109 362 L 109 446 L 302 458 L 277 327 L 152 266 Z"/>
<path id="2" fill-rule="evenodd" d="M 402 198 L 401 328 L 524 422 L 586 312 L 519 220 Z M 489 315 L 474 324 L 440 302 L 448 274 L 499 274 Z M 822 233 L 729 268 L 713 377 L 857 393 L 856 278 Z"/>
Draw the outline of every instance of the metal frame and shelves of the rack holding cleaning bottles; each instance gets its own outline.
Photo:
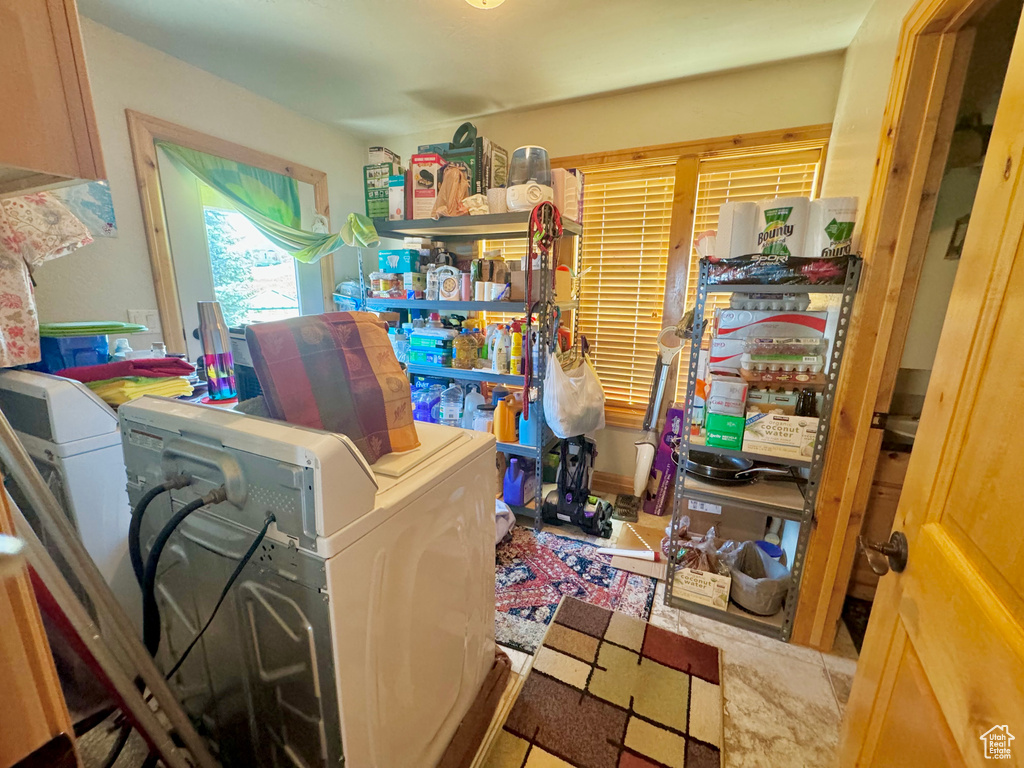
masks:
<path id="1" fill-rule="evenodd" d="M 529 226 L 530 212 L 521 213 L 497 213 L 482 216 L 457 216 L 441 219 L 406 219 L 399 221 L 389 221 L 386 219 L 375 219 L 374 226 L 381 239 L 402 238 L 430 238 L 433 240 L 446 241 L 450 243 L 468 243 L 478 240 L 514 240 L 525 239 Z M 573 272 L 579 274 L 580 264 L 583 254 L 583 227 L 574 221 L 562 219 L 562 237 L 574 239 L 572 267 Z M 362 269 L 362 249 L 358 251 L 359 258 L 359 288 L 360 293 L 366 296 L 366 286 L 364 282 Z M 538 300 L 534 306 L 548 306 L 555 303 L 562 311 L 573 311 L 572 338 L 577 343 L 579 338 L 578 321 L 579 312 L 574 311 L 579 307 L 579 284 L 574 292 L 578 294 L 571 301 L 554 302 L 551 295 L 551 268 L 553 265 L 547 263 L 547 257 L 543 259 L 543 266 L 536 285 L 539 285 Z M 341 298 L 341 297 L 338 297 Z M 437 312 L 512 312 L 525 314 L 529 307 L 523 301 L 427 301 L 425 299 L 361 299 L 364 307 L 368 309 L 419 309 L 424 311 Z M 550 323 L 550 312 L 542 311 L 536 314 L 537 328 L 542 348 L 547 349 L 554 342 L 553 329 Z M 523 342 L 523 353 L 529 354 L 526 341 Z M 540 355 L 538 370 L 534 372 L 530 382 L 530 404 L 540 403 L 544 399 L 544 376 L 547 365 L 547 355 Z M 496 384 L 510 384 L 522 387 L 525 385 L 525 377 L 511 374 L 496 374 L 484 370 L 463 370 L 457 368 L 444 368 L 442 366 L 410 364 L 409 373 L 422 376 L 435 376 L 438 378 L 452 379 L 461 382 L 489 382 Z M 557 442 L 557 438 L 551 434 L 544 421 L 543 410 L 541 421 L 541 444 L 524 445 L 522 443 L 499 442 L 498 451 L 510 456 L 520 456 L 536 460 L 536 481 L 537 493 L 534 505 L 526 507 L 513 507 L 517 514 L 532 517 L 537 527 L 541 525 L 541 505 L 543 503 L 542 486 L 542 459 L 544 455 Z"/>

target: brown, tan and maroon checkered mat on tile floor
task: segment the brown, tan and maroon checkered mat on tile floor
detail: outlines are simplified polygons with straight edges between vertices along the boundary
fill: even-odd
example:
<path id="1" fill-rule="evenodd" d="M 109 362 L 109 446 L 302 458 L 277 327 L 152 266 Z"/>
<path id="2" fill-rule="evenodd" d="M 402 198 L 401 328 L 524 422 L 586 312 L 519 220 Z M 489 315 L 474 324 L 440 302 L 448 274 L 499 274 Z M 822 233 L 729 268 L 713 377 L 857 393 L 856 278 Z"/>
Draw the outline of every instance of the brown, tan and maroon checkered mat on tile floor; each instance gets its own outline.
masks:
<path id="1" fill-rule="evenodd" d="M 719 649 L 571 597 L 486 768 L 719 768 Z"/>

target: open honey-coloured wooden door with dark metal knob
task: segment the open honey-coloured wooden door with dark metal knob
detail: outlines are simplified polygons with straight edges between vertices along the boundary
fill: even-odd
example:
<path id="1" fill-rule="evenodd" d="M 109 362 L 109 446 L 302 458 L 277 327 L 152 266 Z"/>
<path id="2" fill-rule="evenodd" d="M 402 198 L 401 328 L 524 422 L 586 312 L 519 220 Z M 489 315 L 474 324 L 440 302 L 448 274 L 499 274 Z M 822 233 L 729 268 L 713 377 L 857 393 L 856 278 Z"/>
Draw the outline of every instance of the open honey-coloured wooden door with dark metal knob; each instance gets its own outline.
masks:
<path id="1" fill-rule="evenodd" d="M 843 766 L 1024 764 L 1022 339 L 1024 27 L 894 524 L 907 567 L 879 585 Z"/>

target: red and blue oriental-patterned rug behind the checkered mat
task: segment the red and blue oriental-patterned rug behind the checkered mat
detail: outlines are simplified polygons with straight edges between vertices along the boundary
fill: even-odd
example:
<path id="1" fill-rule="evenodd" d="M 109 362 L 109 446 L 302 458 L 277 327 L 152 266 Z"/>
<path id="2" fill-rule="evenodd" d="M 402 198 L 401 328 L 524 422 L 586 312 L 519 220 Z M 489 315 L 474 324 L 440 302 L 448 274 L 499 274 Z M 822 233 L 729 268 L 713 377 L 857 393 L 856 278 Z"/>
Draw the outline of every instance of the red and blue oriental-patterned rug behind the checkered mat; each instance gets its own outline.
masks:
<path id="1" fill-rule="evenodd" d="M 512 528 L 498 547 L 496 639 L 532 653 L 563 595 L 647 621 L 657 582 L 608 565 L 597 547 L 554 534 Z"/>

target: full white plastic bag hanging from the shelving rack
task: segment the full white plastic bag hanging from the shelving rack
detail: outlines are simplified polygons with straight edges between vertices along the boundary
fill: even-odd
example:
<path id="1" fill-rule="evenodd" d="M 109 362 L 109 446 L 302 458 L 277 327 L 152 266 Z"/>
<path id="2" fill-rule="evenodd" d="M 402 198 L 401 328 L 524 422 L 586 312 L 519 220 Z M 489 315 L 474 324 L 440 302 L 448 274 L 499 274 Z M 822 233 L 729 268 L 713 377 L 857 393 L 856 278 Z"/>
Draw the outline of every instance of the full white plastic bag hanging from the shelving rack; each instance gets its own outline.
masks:
<path id="1" fill-rule="evenodd" d="M 604 389 L 586 357 L 562 371 L 558 357 L 548 357 L 544 379 L 544 419 L 556 437 L 566 438 L 604 427 Z"/>

